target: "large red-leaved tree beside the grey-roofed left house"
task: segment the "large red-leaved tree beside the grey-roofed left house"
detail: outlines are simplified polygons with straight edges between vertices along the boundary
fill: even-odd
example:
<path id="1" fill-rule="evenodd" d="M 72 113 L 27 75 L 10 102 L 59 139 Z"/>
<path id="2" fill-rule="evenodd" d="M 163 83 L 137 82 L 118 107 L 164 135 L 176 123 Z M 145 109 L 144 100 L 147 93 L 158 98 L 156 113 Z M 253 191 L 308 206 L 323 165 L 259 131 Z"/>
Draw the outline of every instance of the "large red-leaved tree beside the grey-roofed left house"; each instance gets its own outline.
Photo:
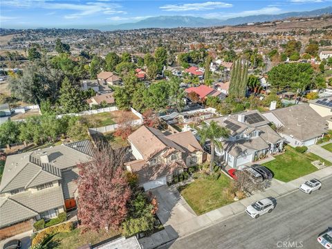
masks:
<path id="1" fill-rule="evenodd" d="M 131 190 L 124 175 L 125 149 L 98 142 L 93 159 L 79 164 L 78 219 L 86 230 L 118 229 L 127 216 Z"/>

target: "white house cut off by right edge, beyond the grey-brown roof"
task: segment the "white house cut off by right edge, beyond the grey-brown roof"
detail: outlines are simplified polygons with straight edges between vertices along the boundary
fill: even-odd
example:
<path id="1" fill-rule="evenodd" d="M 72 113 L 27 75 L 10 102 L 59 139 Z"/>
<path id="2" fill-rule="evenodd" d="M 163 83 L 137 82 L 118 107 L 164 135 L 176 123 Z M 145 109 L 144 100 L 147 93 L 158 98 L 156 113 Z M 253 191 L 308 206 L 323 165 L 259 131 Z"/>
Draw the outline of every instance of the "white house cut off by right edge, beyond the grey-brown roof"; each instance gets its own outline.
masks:
<path id="1" fill-rule="evenodd" d="M 309 100 L 309 107 L 314 109 L 329 124 L 332 129 L 332 97 Z"/>

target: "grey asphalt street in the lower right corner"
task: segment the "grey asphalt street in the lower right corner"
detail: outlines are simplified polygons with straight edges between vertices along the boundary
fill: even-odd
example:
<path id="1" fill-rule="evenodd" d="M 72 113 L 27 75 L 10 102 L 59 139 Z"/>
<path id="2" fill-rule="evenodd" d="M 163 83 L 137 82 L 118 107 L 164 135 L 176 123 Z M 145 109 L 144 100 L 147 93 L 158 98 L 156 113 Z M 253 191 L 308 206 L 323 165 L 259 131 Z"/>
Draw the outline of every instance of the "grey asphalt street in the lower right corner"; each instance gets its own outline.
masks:
<path id="1" fill-rule="evenodd" d="M 322 189 L 299 190 L 277 199 L 270 214 L 252 219 L 243 213 L 176 240 L 169 248 L 322 249 L 318 234 L 332 227 L 332 177 Z"/>

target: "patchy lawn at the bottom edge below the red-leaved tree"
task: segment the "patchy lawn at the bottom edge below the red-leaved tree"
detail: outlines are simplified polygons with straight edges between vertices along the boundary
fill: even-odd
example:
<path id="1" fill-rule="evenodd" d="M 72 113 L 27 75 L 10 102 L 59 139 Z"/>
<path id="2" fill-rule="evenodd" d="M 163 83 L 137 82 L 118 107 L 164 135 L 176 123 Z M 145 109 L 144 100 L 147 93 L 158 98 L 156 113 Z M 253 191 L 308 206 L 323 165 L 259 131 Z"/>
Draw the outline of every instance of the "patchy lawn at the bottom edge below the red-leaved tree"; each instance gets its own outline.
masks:
<path id="1" fill-rule="evenodd" d="M 71 232 L 60 232 L 55 234 L 48 243 L 46 243 L 45 249 L 76 249 L 87 243 L 91 245 L 104 241 L 118 235 L 119 232 L 110 230 L 109 232 L 100 231 L 98 232 L 85 232 L 80 233 L 80 228 L 74 229 Z"/>

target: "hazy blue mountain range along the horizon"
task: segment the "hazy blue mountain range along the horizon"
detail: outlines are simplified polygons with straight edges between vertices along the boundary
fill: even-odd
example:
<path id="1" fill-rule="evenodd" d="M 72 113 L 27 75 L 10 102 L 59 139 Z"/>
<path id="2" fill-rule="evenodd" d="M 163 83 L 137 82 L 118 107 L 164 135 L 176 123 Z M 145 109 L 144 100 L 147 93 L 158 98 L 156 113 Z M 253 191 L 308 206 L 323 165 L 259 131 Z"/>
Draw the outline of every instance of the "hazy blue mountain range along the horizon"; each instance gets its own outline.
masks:
<path id="1" fill-rule="evenodd" d="M 178 27 L 211 27 L 211 26 L 225 26 L 225 25 L 239 25 L 264 21 L 275 21 L 287 19 L 290 17 L 316 17 L 324 14 L 332 14 L 332 6 L 327 8 L 302 11 L 302 12 L 287 12 L 278 15 L 252 15 L 248 17 L 234 17 L 230 19 L 206 19 L 202 17 L 190 16 L 160 16 L 149 17 L 135 23 L 126 23 L 118 25 L 107 25 L 98 27 L 100 30 L 130 30 L 138 28 L 178 28 Z"/>

